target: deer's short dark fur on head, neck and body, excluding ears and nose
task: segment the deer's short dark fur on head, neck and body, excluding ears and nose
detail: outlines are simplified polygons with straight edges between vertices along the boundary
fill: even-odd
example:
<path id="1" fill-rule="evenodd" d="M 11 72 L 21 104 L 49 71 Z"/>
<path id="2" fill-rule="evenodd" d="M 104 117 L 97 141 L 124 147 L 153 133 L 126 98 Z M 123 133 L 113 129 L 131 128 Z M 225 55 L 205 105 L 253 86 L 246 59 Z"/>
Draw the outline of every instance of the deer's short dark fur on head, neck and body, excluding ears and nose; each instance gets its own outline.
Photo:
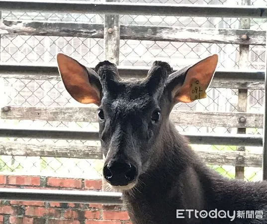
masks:
<path id="1" fill-rule="evenodd" d="M 265 224 L 267 182 L 229 180 L 208 168 L 169 120 L 175 105 L 171 91 L 182 84 L 189 67 L 170 75 L 168 63 L 157 61 L 143 81 L 119 78 L 114 64 L 96 66 L 102 85 L 99 137 L 110 160 L 137 167 L 137 184 L 123 191 L 133 224 Z M 169 76 L 170 75 L 170 76 Z M 155 110 L 161 113 L 153 123 Z M 263 211 L 263 219 L 177 219 L 177 209 Z"/>

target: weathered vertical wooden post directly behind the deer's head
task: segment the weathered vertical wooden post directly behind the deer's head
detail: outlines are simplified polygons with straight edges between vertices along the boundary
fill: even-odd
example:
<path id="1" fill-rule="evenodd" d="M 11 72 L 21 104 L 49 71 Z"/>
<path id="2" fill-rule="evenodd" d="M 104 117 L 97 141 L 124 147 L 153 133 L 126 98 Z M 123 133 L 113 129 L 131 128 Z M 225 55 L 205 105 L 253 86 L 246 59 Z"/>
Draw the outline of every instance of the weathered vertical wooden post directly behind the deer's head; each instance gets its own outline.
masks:
<path id="1" fill-rule="evenodd" d="M 119 0 L 106 0 L 108 2 Z M 119 15 L 105 15 L 104 18 L 104 59 L 119 65 L 120 52 L 120 25 Z M 103 159 L 105 156 L 103 155 Z M 102 191 L 116 192 L 110 189 L 107 182 L 102 178 Z"/>

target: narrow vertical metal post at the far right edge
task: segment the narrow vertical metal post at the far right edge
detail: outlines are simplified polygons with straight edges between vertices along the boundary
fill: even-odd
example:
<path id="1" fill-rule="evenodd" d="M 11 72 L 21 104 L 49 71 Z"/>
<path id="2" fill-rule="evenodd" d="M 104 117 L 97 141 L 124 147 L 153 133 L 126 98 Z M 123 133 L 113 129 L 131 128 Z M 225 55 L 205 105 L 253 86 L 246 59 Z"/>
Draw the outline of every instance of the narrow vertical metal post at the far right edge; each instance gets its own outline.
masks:
<path id="1" fill-rule="evenodd" d="M 266 45 L 265 45 L 265 92 L 264 92 L 264 122 L 263 124 L 264 124 L 264 127 L 263 127 L 263 179 L 267 180 L 267 32 L 266 32 Z"/>

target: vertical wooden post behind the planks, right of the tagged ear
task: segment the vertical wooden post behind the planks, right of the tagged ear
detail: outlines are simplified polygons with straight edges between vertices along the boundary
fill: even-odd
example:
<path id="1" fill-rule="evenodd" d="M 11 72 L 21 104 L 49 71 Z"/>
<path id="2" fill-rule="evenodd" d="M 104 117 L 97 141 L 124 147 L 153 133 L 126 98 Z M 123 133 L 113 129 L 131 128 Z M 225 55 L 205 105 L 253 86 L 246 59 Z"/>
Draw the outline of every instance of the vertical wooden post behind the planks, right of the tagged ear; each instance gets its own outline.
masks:
<path id="1" fill-rule="evenodd" d="M 250 5 L 250 0 L 241 0 L 242 5 Z M 241 29 L 250 29 L 250 18 L 240 18 Z M 248 36 L 244 33 L 241 38 L 246 40 Z M 241 44 L 239 45 L 239 69 L 247 69 L 249 66 L 249 45 Z M 248 90 L 238 89 L 238 111 L 247 112 L 248 105 Z M 242 117 L 240 117 L 239 122 L 244 122 Z M 237 128 L 237 133 L 246 134 L 246 128 Z M 237 150 L 245 151 L 245 146 L 238 146 Z M 236 166 L 236 179 L 244 179 L 244 166 Z"/>

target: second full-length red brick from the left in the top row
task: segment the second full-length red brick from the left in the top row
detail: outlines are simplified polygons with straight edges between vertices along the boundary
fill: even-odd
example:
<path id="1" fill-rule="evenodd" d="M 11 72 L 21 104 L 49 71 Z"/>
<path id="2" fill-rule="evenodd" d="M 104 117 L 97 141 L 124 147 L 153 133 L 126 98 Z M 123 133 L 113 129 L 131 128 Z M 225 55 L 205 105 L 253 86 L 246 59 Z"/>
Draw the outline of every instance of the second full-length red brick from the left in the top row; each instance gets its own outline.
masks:
<path id="1" fill-rule="evenodd" d="M 47 180 L 47 185 L 50 187 L 61 188 L 82 188 L 82 180 L 49 177 Z"/>

